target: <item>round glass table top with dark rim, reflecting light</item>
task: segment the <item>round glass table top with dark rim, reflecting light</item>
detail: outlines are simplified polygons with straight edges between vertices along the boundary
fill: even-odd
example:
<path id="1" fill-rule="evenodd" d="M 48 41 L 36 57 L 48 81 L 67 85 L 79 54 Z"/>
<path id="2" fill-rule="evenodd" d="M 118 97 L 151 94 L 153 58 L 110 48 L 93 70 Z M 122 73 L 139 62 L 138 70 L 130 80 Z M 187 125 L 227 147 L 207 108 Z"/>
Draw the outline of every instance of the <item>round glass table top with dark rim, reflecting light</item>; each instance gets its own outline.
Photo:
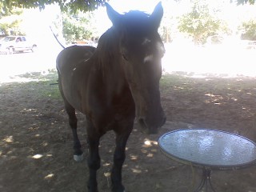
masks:
<path id="1" fill-rule="evenodd" d="M 178 162 L 211 169 L 238 169 L 256 162 L 254 142 L 221 130 L 174 130 L 163 134 L 158 146 Z"/>

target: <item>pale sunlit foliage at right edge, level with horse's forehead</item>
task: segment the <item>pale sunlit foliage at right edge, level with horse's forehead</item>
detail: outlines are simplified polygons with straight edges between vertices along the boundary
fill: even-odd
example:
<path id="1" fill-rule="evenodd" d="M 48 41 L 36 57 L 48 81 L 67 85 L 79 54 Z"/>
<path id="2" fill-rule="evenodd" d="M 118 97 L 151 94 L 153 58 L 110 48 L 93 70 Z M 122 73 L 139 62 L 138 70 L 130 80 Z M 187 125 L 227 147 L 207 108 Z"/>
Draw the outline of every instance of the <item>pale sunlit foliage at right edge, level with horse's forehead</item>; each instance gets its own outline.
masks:
<path id="1" fill-rule="evenodd" d="M 256 41 L 256 21 L 254 19 L 242 22 L 242 26 L 239 28 L 243 31 L 242 39 Z"/>

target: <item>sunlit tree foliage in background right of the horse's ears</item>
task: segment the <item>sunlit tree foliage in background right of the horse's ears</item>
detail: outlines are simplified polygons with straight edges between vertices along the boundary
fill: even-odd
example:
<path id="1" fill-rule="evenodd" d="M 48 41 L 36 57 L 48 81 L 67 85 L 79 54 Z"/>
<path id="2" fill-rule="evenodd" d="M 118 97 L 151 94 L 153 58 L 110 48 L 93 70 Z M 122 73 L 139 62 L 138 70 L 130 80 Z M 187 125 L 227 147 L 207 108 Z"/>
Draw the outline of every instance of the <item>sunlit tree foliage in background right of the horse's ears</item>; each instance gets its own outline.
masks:
<path id="1" fill-rule="evenodd" d="M 193 3 L 190 13 L 183 14 L 180 18 L 178 29 L 193 37 L 195 44 L 200 44 L 208 36 L 223 29 L 223 23 L 210 14 L 206 2 L 195 0 Z"/>

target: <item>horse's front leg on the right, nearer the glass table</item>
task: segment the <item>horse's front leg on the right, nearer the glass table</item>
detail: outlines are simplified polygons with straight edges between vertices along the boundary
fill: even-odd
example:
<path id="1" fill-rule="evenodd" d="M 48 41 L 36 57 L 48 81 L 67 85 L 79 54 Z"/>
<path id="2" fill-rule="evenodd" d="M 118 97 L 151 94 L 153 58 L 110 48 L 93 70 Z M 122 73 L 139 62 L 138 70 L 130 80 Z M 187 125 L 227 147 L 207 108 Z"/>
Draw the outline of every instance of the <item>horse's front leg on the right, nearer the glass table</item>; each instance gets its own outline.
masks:
<path id="1" fill-rule="evenodd" d="M 124 128 L 124 127 L 123 127 Z M 125 187 L 122 185 L 122 164 L 126 159 L 126 142 L 133 129 L 133 122 L 126 128 L 114 130 L 116 133 L 116 148 L 114 150 L 114 165 L 111 172 L 111 182 L 113 192 L 123 192 Z"/>

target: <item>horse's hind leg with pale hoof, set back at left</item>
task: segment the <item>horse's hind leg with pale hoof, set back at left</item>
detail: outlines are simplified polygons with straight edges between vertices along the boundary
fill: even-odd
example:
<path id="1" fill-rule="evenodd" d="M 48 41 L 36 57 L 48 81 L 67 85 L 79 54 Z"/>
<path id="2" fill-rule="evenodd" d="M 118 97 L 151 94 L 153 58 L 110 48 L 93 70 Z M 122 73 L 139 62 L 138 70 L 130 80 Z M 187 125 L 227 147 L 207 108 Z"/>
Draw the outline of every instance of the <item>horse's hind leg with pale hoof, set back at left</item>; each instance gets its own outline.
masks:
<path id="1" fill-rule="evenodd" d="M 69 124 L 73 133 L 73 138 L 74 138 L 74 160 L 76 162 L 81 162 L 83 160 L 83 153 L 81 150 L 81 143 L 78 138 L 78 132 L 77 132 L 77 127 L 78 127 L 78 118 L 75 115 L 75 109 L 73 106 L 70 105 L 69 102 L 65 102 L 65 108 L 66 108 L 66 113 L 69 116 Z"/>

